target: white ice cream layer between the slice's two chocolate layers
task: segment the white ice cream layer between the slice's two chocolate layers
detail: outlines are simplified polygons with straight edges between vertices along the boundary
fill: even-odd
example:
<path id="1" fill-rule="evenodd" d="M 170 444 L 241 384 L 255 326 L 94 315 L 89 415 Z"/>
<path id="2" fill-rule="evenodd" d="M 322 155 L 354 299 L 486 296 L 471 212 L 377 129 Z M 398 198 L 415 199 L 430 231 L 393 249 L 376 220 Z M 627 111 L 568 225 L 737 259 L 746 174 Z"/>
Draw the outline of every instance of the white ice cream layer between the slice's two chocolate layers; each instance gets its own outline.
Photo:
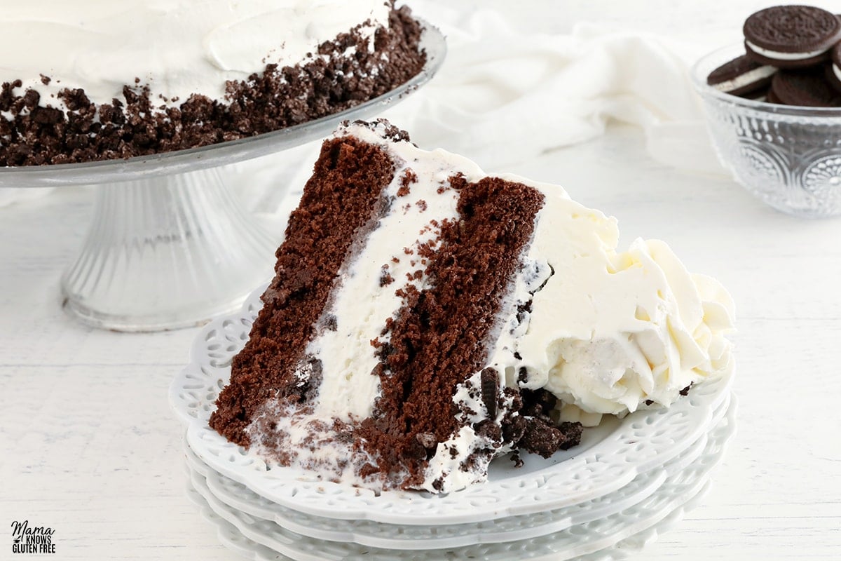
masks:
<path id="1" fill-rule="evenodd" d="M 371 144 L 382 144 L 377 133 L 352 125 L 348 133 Z M 426 259 L 421 246 L 436 249 L 440 225 L 457 220 L 458 191 L 450 186 L 455 170 L 478 172 L 462 157 L 445 151 L 422 152 L 409 142 L 388 145 L 397 163 L 394 180 L 383 191 L 389 212 L 366 238 L 364 246 L 339 273 L 337 294 L 325 310 L 335 318 L 335 330 L 325 330 L 309 342 L 308 357 L 321 362 L 322 382 L 316 414 L 343 421 L 371 414 L 379 394 L 372 374 L 379 358 L 371 341 L 388 342 L 383 326 L 404 304 L 398 291 L 410 285 L 427 287 Z M 404 180 L 407 173 L 415 183 Z M 390 278 L 383 283 L 383 276 Z"/>

